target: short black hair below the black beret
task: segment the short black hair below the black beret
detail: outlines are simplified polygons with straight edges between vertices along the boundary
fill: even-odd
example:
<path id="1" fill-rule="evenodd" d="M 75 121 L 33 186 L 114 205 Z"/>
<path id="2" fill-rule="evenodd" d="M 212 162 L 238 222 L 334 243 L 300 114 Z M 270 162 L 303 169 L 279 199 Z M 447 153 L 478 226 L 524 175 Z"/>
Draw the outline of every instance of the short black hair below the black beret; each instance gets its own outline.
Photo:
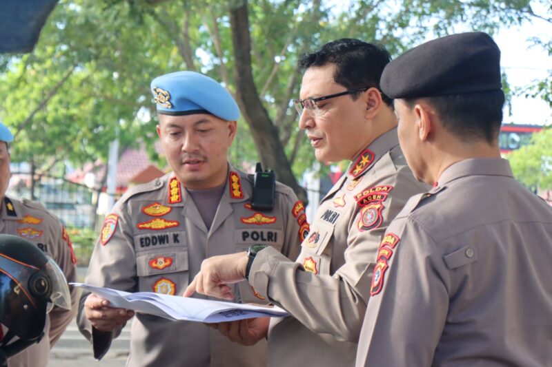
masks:
<path id="1" fill-rule="evenodd" d="M 491 144 L 497 140 L 504 107 L 502 90 L 408 98 L 403 101 L 412 108 L 422 100 L 435 108 L 444 128 L 458 138 L 466 142 L 486 140 Z"/>

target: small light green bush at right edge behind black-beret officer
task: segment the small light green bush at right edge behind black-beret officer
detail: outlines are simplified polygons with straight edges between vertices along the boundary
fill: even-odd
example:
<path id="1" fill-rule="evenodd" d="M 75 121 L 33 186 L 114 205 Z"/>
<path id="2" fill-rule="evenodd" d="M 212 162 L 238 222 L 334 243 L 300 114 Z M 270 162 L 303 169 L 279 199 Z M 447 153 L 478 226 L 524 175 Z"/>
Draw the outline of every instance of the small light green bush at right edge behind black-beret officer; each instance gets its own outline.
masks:
<path id="1" fill-rule="evenodd" d="M 526 187 L 552 189 L 552 127 L 531 136 L 531 143 L 508 154 L 513 174 Z"/>

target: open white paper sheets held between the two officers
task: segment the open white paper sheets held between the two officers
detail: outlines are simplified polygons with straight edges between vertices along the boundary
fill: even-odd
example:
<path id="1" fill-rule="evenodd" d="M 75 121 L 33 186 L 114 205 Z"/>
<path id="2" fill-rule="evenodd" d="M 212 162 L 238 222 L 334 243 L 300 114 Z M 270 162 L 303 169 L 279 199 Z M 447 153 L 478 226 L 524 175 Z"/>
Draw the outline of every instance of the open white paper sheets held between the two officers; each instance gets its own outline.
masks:
<path id="1" fill-rule="evenodd" d="M 70 283 L 108 300 L 112 307 L 164 317 L 172 321 L 226 322 L 252 317 L 284 317 L 289 314 L 278 306 L 255 306 L 199 298 L 164 295 L 153 292 L 129 293 L 116 289 Z"/>

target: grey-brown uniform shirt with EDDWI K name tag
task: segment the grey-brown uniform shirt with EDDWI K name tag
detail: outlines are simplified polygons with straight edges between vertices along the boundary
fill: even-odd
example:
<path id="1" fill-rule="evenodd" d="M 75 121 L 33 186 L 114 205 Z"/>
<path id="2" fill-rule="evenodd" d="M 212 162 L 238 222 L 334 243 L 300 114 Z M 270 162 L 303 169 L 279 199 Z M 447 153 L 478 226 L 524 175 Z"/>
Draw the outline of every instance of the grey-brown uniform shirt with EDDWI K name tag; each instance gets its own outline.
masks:
<path id="1" fill-rule="evenodd" d="M 246 174 L 230 168 L 209 230 L 173 174 L 130 189 L 106 217 L 86 282 L 122 291 L 181 295 L 201 262 L 214 255 L 262 243 L 297 257 L 300 226 L 291 214 L 298 202 L 295 193 L 277 183 L 273 211 L 259 212 L 250 207 L 252 189 Z M 235 285 L 235 294 L 235 302 L 267 303 L 247 282 Z M 86 297 L 81 297 L 77 319 L 83 335 L 90 338 L 92 326 L 82 312 Z M 94 331 L 97 358 L 106 353 L 115 335 Z M 240 346 L 197 322 L 172 322 L 144 314 L 132 320 L 127 366 L 263 365 L 266 342 Z"/>

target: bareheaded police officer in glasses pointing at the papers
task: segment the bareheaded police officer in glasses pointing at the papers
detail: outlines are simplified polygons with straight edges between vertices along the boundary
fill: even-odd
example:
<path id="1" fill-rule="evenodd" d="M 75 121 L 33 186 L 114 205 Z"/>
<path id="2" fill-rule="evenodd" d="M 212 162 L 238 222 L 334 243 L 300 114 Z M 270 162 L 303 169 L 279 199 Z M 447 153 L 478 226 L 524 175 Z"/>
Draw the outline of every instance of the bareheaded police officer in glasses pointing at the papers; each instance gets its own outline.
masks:
<path id="1" fill-rule="evenodd" d="M 406 200 L 425 190 L 406 165 L 391 100 L 379 89 L 389 59 L 383 48 L 355 39 L 302 57 L 299 127 L 317 160 L 351 164 L 322 200 L 296 262 L 270 248 L 213 258 L 186 291 L 231 297 L 225 284 L 247 277 L 283 306 L 292 316 L 270 323 L 270 366 L 354 364 L 377 247 Z M 267 330 L 224 333 L 250 344 Z"/>

